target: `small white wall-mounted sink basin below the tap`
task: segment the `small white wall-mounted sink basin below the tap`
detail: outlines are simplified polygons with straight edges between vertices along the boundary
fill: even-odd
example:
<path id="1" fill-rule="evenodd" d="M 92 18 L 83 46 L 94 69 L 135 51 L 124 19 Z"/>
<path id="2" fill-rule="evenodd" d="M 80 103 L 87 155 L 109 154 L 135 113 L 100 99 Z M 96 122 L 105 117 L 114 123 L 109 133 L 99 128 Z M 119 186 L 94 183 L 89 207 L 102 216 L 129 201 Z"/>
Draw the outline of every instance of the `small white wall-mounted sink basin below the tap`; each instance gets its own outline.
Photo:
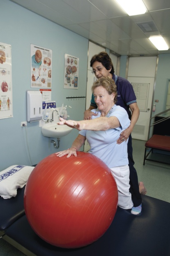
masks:
<path id="1" fill-rule="evenodd" d="M 43 136 L 50 138 L 61 138 L 71 132 L 73 128 L 67 125 L 47 124 L 41 127 Z"/>

